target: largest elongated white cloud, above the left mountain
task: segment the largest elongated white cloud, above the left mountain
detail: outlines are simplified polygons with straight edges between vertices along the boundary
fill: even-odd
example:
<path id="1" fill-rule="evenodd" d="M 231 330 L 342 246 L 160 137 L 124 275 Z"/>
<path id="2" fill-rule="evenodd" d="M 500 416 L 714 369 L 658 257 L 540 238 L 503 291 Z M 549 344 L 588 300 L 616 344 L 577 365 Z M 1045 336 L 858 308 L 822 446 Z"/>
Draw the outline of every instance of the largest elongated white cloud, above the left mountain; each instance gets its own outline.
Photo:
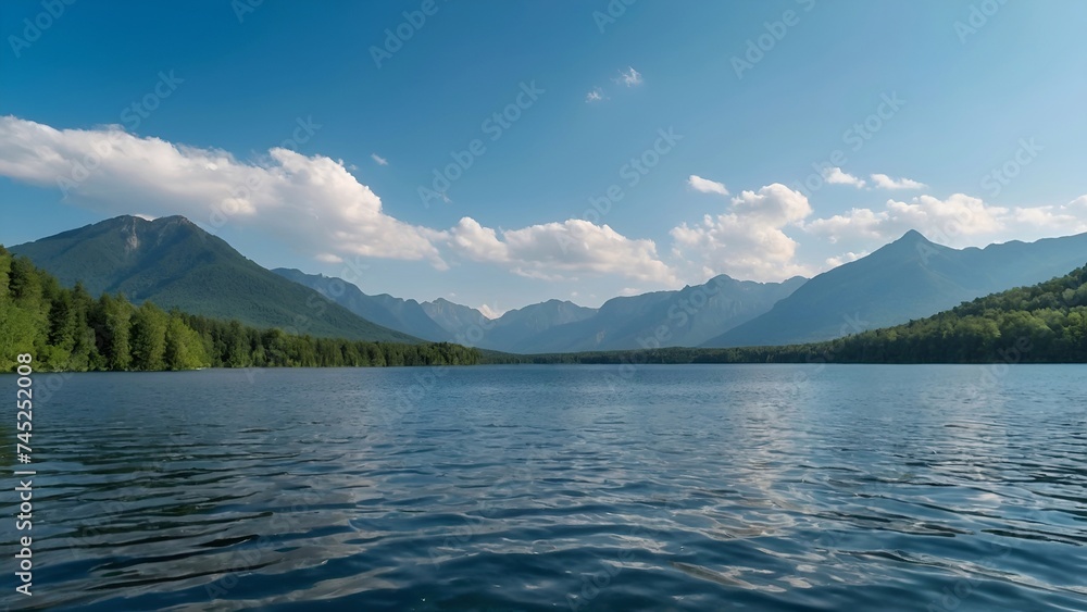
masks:
<path id="1" fill-rule="evenodd" d="M 117 126 L 54 129 L 0 117 L 0 176 L 60 187 L 65 201 L 109 214 L 183 214 L 278 235 L 302 252 L 426 260 L 445 233 L 398 221 L 343 163 L 274 148 L 243 162 L 217 149 L 175 145 Z M 150 210 L 149 210 L 150 209 Z"/>

